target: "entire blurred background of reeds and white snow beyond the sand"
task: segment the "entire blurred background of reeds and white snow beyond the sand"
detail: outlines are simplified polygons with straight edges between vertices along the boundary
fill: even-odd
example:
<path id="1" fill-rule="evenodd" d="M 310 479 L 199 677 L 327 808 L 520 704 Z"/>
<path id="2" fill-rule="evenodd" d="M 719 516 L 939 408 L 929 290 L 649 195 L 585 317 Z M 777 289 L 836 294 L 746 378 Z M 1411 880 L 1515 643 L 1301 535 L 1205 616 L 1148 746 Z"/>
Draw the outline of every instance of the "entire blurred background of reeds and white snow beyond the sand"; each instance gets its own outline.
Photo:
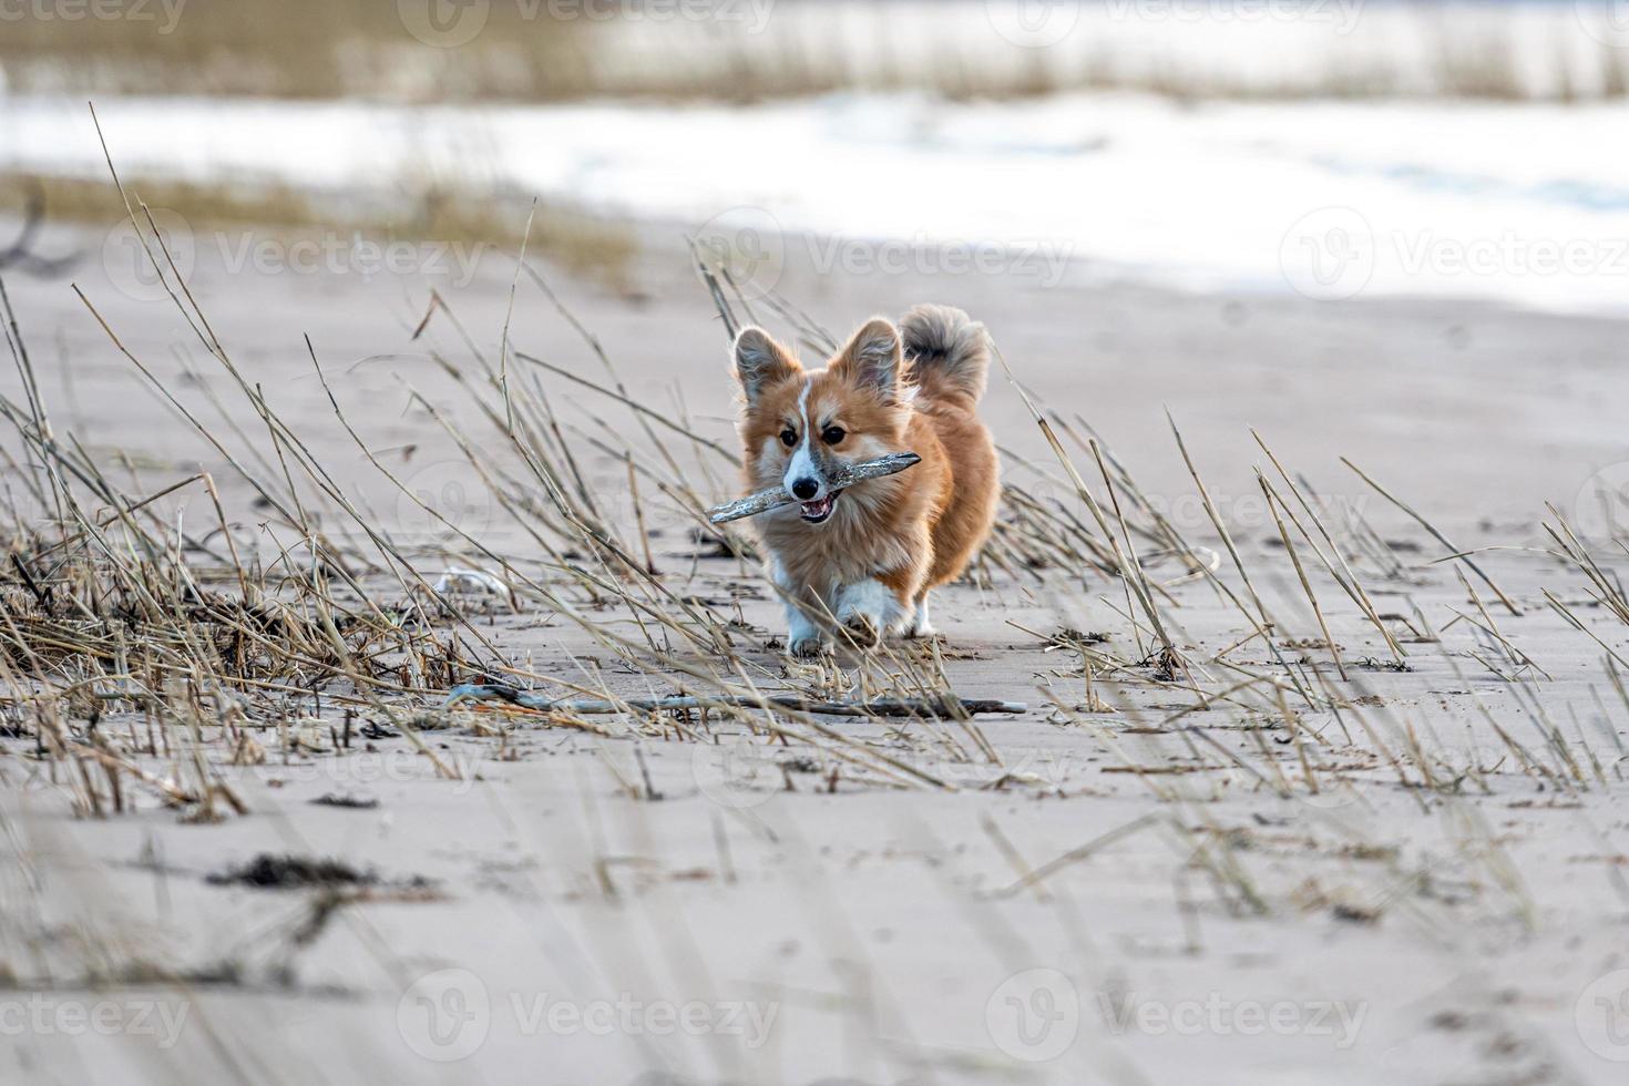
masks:
<path id="1" fill-rule="evenodd" d="M 5 0 L 0 212 L 122 213 L 91 101 L 191 226 L 513 246 L 536 197 L 619 290 L 660 223 L 744 282 L 818 236 L 1616 313 L 1626 91 L 1622 0 Z"/>

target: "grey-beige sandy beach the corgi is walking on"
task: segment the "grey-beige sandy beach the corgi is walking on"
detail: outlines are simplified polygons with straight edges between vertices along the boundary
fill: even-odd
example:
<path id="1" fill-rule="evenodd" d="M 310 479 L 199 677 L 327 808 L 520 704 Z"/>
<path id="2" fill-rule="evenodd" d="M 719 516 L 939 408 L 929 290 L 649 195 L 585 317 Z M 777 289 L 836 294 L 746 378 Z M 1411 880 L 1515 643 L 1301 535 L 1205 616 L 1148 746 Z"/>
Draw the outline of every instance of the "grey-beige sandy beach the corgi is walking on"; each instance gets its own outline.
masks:
<path id="1" fill-rule="evenodd" d="M 412 715 L 411 739 L 313 671 L 290 676 L 295 692 L 233 694 L 257 759 L 228 726 L 166 755 L 147 742 L 150 713 L 109 700 L 98 742 L 150 780 L 125 773 L 127 809 L 86 817 L 85 788 L 109 799 L 108 782 L 77 783 L 83 759 L 41 757 L 16 705 L 0 739 L 0 961 L 18 996 L 8 1014 L 33 1018 L 0 1021 L 8 1081 L 1621 1081 L 1629 700 L 1613 656 L 1629 656 L 1629 627 L 1543 529 L 1559 531 L 1549 503 L 1608 578 L 1626 565 L 1595 498 L 1629 471 L 1621 322 L 1184 295 L 1085 264 L 1047 287 L 920 265 L 829 275 L 793 236 L 774 287 L 806 327 L 841 337 L 917 301 L 969 309 L 1059 430 L 1090 427 L 1116 479 L 1135 480 L 1147 508 L 1131 519 L 1157 511 L 1207 571 L 1121 532 L 1113 511 L 1116 531 L 1083 528 L 1140 550 L 1175 664 L 1132 580 L 1085 549 L 981 562 L 937 602 L 942 642 L 894 650 L 904 664 L 790 664 L 756 563 L 697 542 L 658 487 L 684 477 L 704 500 L 736 497 L 700 444 L 733 448 L 733 389 L 681 228 L 637 230 L 621 290 L 538 264 L 559 308 L 497 251 L 453 285 L 344 262 L 231 270 L 220 254 L 236 241 L 205 236 L 189 277 L 200 335 L 103 259 L 99 231 L 68 228 L 41 246 L 85 254 L 67 278 L 5 287 L 57 440 L 72 435 L 124 495 L 209 472 L 244 552 L 275 565 L 296 542 L 155 391 L 254 474 L 274 472 L 266 422 L 205 350 L 212 335 L 427 581 L 454 567 L 507 576 L 464 532 L 555 586 L 572 614 L 525 589 L 464 594 L 469 628 L 518 685 L 696 689 L 608 648 L 598 630 L 640 642 L 648 615 L 564 578 L 459 451 L 451 431 L 525 477 L 477 407 L 497 404 L 477 357 L 507 360 L 551 405 L 626 539 L 640 529 L 624 449 L 648 469 L 655 580 L 730 630 L 764 692 L 888 690 L 898 679 L 883 676 L 904 666 L 1026 712 L 785 716 L 754 734 L 722 713 L 665 725 L 443 710 L 446 687 L 427 682 L 389 697 Z M 787 332 L 767 300 L 753 311 Z M 402 487 L 340 425 L 306 337 L 345 420 Z M 697 440 L 676 438 L 663 464 L 642 417 L 582 381 L 622 383 Z M 16 370 L 0 386 L 23 402 Z M 1090 524 L 1003 376 L 984 414 L 1007 482 Z M 1088 448 L 1065 446 L 1108 506 Z M 1334 545 L 1290 480 L 1318 495 Z M 210 531 L 205 490 L 151 511 L 171 541 L 197 542 L 189 563 L 218 568 L 225 534 Z M 362 547 L 332 503 L 313 515 Z M 288 591 L 310 567 L 285 560 Z M 355 570 L 381 598 L 406 594 L 383 567 Z M 23 591 L 8 585 L 8 606 L 23 609 Z M 1253 632 L 1262 612 L 1266 640 Z M 668 651 L 707 663 L 689 643 Z M 182 780 L 192 759 L 241 814 L 165 801 L 153 782 Z"/>

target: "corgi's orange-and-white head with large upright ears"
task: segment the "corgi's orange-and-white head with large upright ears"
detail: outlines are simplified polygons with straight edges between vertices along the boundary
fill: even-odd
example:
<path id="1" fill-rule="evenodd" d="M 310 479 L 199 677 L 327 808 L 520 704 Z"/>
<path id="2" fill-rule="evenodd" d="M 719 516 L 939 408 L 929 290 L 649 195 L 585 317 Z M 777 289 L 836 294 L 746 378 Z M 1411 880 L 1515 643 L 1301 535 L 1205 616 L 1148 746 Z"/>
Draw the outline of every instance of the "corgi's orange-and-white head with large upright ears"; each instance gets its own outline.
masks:
<path id="1" fill-rule="evenodd" d="M 855 332 L 824 370 L 805 370 L 761 327 L 741 329 L 731 353 L 744 396 L 748 477 L 761 490 L 785 487 L 806 523 L 823 524 L 837 508 L 837 464 L 904 448 L 911 405 L 899 329 L 883 317 Z"/>

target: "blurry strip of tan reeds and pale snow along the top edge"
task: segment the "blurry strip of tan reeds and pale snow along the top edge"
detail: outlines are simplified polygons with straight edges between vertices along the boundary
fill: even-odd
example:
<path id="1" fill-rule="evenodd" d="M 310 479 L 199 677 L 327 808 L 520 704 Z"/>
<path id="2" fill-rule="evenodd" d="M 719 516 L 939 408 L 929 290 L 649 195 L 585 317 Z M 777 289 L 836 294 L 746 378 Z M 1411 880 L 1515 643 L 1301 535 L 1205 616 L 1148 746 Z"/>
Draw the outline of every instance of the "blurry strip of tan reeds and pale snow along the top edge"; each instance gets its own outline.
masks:
<path id="1" fill-rule="evenodd" d="M 1596 0 L 10 0 L 13 93 L 389 103 L 1080 90 L 1603 101 Z"/>

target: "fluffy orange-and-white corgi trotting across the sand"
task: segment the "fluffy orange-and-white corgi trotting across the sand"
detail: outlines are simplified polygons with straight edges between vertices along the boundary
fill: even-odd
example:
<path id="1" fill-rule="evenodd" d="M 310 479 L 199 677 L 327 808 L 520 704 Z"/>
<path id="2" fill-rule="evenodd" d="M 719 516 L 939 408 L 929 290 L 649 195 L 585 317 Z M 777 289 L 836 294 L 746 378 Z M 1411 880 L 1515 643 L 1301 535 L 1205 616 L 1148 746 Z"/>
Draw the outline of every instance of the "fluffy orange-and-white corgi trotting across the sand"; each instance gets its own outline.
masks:
<path id="1" fill-rule="evenodd" d="M 761 327 L 736 335 L 746 485 L 795 500 L 756 518 L 793 656 L 826 651 L 832 620 L 862 648 L 933 633 L 929 591 L 961 575 L 995 523 L 1000 467 L 976 414 L 989 361 L 984 326 L 948 306 L 917 306 L 899 327 L 873 317 L 821 370 Z M 922 462 L 832 488 L 837 464 L 888 453 Z"/>

